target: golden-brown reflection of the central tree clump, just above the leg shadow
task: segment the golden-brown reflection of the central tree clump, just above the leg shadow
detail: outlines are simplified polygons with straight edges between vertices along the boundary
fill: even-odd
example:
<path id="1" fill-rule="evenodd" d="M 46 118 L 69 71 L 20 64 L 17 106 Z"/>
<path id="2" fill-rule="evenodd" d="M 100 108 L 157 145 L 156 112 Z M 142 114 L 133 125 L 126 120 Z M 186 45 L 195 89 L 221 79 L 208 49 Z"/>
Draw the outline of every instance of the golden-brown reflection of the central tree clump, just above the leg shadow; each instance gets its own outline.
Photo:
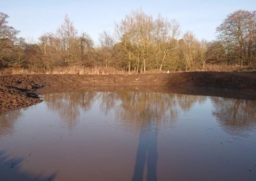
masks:
<path id="1" fill-rule="evenodd" d="M 134 125 L 139 130 L 143 122 L 174 122 L 177 119 L 175 97 L 175 94 L 158 92 L 124 92 L 119 96 L 121 103 L 116 108 L 116 118 L 136 122 Z"/>

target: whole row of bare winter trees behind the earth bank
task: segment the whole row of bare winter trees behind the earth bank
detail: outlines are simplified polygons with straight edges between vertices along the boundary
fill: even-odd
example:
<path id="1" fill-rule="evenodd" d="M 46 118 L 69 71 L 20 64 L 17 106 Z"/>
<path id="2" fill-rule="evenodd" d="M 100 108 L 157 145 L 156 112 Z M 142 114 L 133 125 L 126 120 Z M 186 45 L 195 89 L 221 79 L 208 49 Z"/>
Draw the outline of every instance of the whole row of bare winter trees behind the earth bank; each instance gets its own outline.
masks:
<path id="1" fill-rule="evenodd" d="M 137 10 L 116 23 L 114 34 L 100 33 L 99 45 L 87 33 L 79 34 L 67 15 L 55 33 L 42 34 L 37 43 L 26 43 L 8 24 L 8 15 L 0 13 L 0 68 L 49 71 L 100 66 L 144 73 L 256 64 L 256 11 L 230 13 L 216 32 L 214 41 L 198 40 L 190 31 L 180 34 L 177 20 L 161 15 L 154 18 Z"/>

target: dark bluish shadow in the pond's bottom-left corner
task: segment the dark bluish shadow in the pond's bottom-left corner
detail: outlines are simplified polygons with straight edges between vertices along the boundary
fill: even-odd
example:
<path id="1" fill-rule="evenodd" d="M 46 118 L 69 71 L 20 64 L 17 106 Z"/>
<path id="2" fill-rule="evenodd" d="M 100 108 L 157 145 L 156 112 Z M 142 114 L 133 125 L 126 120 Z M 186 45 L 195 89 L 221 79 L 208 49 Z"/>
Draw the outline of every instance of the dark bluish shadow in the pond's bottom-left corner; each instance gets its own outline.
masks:
<path id="1" fill-rule="evenodd" d="M 20 170 L 22 159 L 6 156 L 3 150 L 0 150 L 0 180 L 3 181 L 45 181 L 55 180 L 56 173 L 48 176 L 32 175 Z"/>

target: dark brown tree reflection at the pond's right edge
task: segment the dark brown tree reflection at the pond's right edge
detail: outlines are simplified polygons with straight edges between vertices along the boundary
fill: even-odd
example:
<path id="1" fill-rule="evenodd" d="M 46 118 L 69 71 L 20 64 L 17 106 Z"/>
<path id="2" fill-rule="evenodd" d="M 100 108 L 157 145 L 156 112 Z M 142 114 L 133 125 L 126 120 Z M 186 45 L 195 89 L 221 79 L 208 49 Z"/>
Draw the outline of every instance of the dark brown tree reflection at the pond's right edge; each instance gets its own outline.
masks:
<path id="1" fill-rule="evenodd" d="M 256 101 L 212 97 L 212 104 L 212 115 L 228 133 L 243 135 L 256 126 Z"/>

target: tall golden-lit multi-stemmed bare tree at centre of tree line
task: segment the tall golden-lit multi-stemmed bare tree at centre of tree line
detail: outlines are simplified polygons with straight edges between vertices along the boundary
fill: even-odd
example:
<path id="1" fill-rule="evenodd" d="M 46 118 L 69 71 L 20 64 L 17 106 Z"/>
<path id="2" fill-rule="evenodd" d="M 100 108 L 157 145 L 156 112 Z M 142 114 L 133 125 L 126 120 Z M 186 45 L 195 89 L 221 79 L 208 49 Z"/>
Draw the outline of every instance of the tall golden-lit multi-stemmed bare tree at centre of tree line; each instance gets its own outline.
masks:
<path id="1" fill-rule="evenodd" d="M 120 41 L 124 50 L 129 56 L 129 67 L 131 66 L 131 51 L 136 56 L 136 71 L 146 71 L 147 57 L 150 56 L 150 49 L 154 44 L 156 34 L 154 19 L 143 11 L 132 11 L 127 15 L 120 25 L 116 25 Z M 140 66 L 140 62 L 142 65 Z"/>

